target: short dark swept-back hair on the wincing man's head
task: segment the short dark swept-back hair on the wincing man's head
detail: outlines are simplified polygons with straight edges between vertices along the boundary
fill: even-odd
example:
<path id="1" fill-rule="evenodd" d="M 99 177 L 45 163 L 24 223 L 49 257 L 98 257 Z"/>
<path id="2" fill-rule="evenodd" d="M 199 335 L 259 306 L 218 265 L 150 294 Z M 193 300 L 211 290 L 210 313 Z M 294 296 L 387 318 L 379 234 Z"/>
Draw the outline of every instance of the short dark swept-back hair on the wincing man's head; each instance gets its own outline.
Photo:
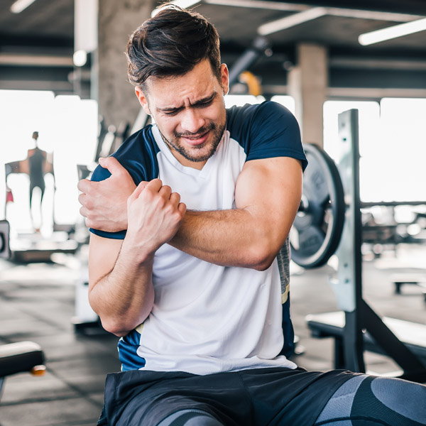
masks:
<path id="1" fill-rule="evenodd" d="M 145 87 L 148 77 L 184 75 L 204 59 L 220 80 L 219 35 L 204 16 L 169 5 L 145 21 L 127 43 L 127 75 Z"/>

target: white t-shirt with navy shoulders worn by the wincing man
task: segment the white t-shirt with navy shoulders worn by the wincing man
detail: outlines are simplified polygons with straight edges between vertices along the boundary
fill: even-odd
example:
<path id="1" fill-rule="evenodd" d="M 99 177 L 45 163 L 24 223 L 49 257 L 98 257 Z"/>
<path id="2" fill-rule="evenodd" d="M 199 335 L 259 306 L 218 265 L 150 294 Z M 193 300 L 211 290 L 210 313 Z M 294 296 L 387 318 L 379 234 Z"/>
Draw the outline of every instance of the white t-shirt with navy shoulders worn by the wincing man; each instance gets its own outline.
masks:
<path id="1" fill-rule="evenodd" d="M 269 113 L 271 106 L 268 107 L 265 112 Z M 276 107 L 273 105 L 272 109 Z M 234 114 L 244 111 L 244 119 L 248 119 L 244 107 L 233 111 Z M 282 107 L 278 111 L 283 114 Z M 290 113 L 285 111 L 287 117 Z M 126 163 L 124 158 L 129 158 L 133 164 L 139 151 L 146 151 L 149 145 L 152 148 L 146 155 L 149 160 L 143 162 L 140 170 L 135 171 L 129 164 L 128 170 L 136 183 L 150 180 L 141 178 L 143 174 L 160 178 L 163 185 L 170 185 L 180 194 L 187 209 L 234 209 L 236 180 L 250 155 L 250 147 L 232 137 L 229 127 L 233 124 L 232 130 L 236 124 L 231 120 L 231 113 L 228 113 L 227 130 L 216 153 L 202 170 L 180 164 L 165 145 L 157 126 L 131 137 L 122 152 L 117 151 L 116 158 L 122 164 Z M 288 121 L 294 126 L 291 119 Z M 285 134 L 288 137 L 288 133 Z M 253 134 L 251 136 L 253 138 Z M 284 146 L 285 141 L 283 138 Z M 268 151 L 265 145 L 263 151 L 257 147 L 261 155 L 266 155 L 261 158 L 287 152 L 280 153 L 274 146 L 270 150 L 273 154 L 268 155 L 264 153 Z M 291 156 L 295 156 L 292 150 L 297 149 L 294 146 L 290 149 Z M 303 161 L 301 144 L 300 153 L 299 158 Z M 284 345 L 282 275 L 277 259 L 266 271 L 255 271 L 218 266 L 168 244 L 161 246 L 153 263 L 153 310 L 143 324 L 119 342 L 123 369 L 207 374 L 268 366 L 295 368 L 292 361 L 279 355 Z"/>

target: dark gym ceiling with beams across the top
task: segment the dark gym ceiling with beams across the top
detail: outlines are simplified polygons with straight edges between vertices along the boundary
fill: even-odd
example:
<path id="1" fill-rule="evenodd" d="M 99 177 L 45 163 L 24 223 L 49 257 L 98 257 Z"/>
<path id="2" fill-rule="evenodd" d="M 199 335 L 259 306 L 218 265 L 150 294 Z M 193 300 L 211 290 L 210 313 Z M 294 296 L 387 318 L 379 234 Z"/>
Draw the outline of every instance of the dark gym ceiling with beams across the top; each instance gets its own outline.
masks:
<path id="1" fill-rule="evenodd" d="M 36 0 L 18 14 L 11 4 L 0 0 L 0 88 L 72 90 L 74 0 Z M 332 86 L 426 89 L 426 31 L 371 46 L 358 42 L 361 33 L 426 16 L 425 0 L 202 0 L 196 8 L 217 27 L 229 65 L 260 26 L 304 13 L 298 15 L 304 22 L 266 36 L 273 55 L 260 58 L 253 72 L 267 84 L 285 82 L 297 61 L 295 46 L 307 42 L 327 46 Z"/>

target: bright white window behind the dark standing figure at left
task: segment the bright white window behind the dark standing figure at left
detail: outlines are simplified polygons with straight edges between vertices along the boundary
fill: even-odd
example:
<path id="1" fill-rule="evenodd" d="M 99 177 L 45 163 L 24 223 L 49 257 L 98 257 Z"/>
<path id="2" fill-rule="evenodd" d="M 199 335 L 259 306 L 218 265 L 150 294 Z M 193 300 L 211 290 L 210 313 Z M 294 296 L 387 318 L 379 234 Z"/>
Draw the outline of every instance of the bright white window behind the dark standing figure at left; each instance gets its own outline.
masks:
<path id="1" fill-rule="evenodd" d="M 53 157 L 55 168 L 55 182 L 45 175 L 41 231 L 44 227 L 48 234 L 53 219 L 56 224 L 75 224 L 80 219 L 77 164 L 91 165 L 97 151 L 97 102 L 45 91 L 0 90 L 0 116 L 0 219 L 9 220 L 12 235 L 32 229 L 28 175 L 8 176 L 14 201 L 5 205 L 4 164 L 24 160 L 34 148 L 33 131 L 38 131 L 39 147 Z"/>

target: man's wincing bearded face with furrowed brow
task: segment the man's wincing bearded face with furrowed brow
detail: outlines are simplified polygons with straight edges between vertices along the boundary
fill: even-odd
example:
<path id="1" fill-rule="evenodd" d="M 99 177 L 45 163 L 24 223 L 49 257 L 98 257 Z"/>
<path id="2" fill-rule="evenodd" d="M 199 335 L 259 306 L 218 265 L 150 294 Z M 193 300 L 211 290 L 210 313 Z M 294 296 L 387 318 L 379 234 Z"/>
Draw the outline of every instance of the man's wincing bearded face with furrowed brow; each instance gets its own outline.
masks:
<path id="1" fill-rule="evenodd" d="M 203 60 L 182 76 L 150 77 L 144 93 L 136 87 L 144 111 L 182 165 L 201 169 L 216 151 L 226 124 L 228 81 L 226 65 L 219 82 L 209 60 Z"/>

